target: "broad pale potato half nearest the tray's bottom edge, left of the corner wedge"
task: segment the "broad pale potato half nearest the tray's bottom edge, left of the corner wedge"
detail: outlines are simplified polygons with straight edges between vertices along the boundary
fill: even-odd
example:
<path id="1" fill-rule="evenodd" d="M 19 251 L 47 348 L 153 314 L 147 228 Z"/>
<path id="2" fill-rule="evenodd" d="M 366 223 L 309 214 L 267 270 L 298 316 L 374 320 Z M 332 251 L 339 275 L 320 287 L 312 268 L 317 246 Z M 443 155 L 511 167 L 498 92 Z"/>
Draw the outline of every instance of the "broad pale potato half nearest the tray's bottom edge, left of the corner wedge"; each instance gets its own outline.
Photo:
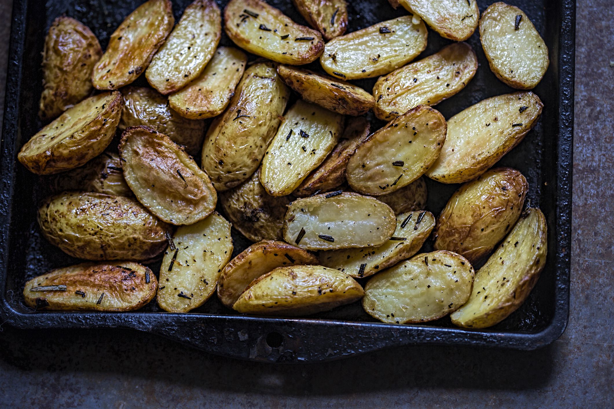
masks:
<path id="1" fill-rule="evenodd" d="M 473 275 L 467 259 L 451 251 L 418 254 L 371 278 L 362 307 L 388 324 L 433 321 L 467 302 Z"/>

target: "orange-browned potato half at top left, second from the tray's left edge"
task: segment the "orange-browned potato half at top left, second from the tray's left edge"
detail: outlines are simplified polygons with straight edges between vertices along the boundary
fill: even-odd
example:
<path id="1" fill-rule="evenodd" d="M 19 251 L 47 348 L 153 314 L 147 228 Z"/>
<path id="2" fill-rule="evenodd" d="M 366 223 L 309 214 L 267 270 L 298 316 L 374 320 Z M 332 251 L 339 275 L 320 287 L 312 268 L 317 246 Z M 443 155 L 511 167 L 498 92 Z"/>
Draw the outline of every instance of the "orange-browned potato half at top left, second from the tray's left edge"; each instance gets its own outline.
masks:
<path id="1" fill-rule="evenodd" d="M 173 29 L 170 0 L 149 0 L 134 10 L 111 34 L 107 50 L 91 74 L 98 90 L 117 90 L 147 69 Z"/>

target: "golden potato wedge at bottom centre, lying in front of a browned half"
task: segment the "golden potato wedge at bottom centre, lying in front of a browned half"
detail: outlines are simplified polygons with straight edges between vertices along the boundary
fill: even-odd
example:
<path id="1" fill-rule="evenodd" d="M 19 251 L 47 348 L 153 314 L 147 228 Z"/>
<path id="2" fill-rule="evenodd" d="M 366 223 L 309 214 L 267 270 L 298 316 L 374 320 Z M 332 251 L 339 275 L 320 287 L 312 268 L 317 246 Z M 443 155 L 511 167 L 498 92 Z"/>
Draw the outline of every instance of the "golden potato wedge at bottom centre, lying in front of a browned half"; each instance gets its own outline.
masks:
<path id="1" fill-rule="evenodd" d="M 359 283 L 334 269 L 279 267 L 254 280 L 233 308 L 253 315 L 309 315 L 351 304 L 364 294 Z"/>

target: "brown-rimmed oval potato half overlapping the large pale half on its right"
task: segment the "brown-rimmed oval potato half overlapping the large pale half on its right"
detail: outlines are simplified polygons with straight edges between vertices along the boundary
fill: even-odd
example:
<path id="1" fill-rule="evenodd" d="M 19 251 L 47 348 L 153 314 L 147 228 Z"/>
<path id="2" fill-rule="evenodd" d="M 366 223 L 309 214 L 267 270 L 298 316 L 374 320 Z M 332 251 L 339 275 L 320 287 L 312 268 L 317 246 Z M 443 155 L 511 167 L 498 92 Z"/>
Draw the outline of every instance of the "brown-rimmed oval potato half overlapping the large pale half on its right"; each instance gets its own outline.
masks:
<path id="1" fill-rule="evenodd" d="M 446 120 L 418 105 L 371 134 L 349 159 L 346 178 L 357 192 L 391 193 L 421 177 L 446 140 Z"/>

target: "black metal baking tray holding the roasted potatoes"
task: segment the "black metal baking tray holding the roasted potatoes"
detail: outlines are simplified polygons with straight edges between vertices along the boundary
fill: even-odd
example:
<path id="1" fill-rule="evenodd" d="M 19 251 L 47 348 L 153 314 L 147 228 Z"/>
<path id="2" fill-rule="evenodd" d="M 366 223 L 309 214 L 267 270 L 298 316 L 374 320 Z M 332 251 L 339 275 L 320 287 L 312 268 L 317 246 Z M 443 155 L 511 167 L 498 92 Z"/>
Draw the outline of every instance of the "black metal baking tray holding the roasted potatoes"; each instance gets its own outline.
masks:
<path id="1" fill-rule="evenodd" d="M 533 350 L 558 338 L 569 312 L 569 249 L 572 183 L 573 74 L 575 1 L 513 0 L 534 22 L 550 50 L 550 67 L 534 92 L 544 103 L 542 118 L 524 141 L 500 164 L 527 177 L 527 201 L 542 208 L 548 222 L 548 259 L 542 277 L 524 305 L 490 329 L 468 331 L 449 318 L 424 325 L 398 326 L 374 322 L 359 303 L 307 318 L 257 318 L 237 315 L 212 297 L 192 313 L 165 313 L 150 303 L 138 312 L 35 312 L 23 305 L 25 281 L 76 262 L 42 239 L 35 210 L 47 194 L 43 178 L 17 161 L 17 152 L 40 127 L 37 104 L 41 94 L 41 52 L 53 18 L 65 13 L 88 25 L 106 47 L 109 35 L 141 1 L 138 0 L 15 0 L 10 34 L 6 109 L 0 151 L 0 323 L 21 328 L 128 327 L 188 343 L 211 353 L 270 362 L 313 362 L 338 359 L 391 346 L 475 345 Z M 178 19 L 189 0 L 175 0 Z M 227 1 L 218 1 L 220 7 Z M 290 0 L 270 0 L 293 20 L 305 24 Z M 386 0 L 349 1 L 349 31 L 405 14 Z M 479 0 L 482 12 L 489 2 Z M 430 30 L 421 57 L 449 41 Z M 451 117 L 485 97 L 513 90 L 495 78 L 481 50 L 479 34 L 468 40 L 480 61 L 472 82 L 437 105 Z M 231 42 L 225 35 L 223 45 Z M 317 63 L 313 64 L 317 68 Z M 144 78 L 138 83 L 144 84 Z M 375 80 L 358 82 L 367 90 Z M 381 123 L 373 121 L 373 129 Z M 437 214 L 457 185 L 428 181 L 427 208 Z M 249 243 L 237 232 L 235 254 Z M 424 250 L 430 250 L 430 243 Z M 157 266 L 152 266 L 157 271 Z"/>

